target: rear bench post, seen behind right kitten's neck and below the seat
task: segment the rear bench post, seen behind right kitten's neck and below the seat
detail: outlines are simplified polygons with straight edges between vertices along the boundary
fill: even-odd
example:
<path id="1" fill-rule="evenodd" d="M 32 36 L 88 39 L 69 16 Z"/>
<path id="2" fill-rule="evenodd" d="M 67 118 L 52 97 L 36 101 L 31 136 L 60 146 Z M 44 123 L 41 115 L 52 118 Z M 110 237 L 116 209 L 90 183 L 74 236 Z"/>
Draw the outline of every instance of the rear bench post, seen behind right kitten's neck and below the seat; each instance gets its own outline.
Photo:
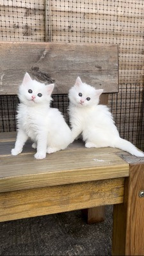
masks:
<path id="1" fill-rule="evenodd" d="M 100 96 L 99 104 L 108 105 L 108 93 L 104 93 Z M 82 214 L 83 214 L 84 218 L 86 218 L 86 222 L 88 224 L 104 221 L 104 219 L 105 219 L 105 206 L 83 209 Z"/>

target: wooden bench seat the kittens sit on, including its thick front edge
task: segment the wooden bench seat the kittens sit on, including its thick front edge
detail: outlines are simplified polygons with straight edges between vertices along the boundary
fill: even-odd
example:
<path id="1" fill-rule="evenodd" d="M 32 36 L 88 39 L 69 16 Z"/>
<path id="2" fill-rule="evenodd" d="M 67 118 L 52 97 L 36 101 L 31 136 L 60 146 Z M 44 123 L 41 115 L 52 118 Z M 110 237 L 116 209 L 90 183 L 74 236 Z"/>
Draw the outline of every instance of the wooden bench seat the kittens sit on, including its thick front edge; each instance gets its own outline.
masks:
<path id="1" fill-rule="evenodd" d="M 8 141 L 7 134 L 4 141 L 4 136 L 1 134 L 0 192 L 129 176 L 129 164 L 116 154 L 116 148 L 84 148 L 82 142 L 77 142 L 36 160 L 29 142 L 22 154 L 11 156 L 15 140 L 11 134 Z"/>

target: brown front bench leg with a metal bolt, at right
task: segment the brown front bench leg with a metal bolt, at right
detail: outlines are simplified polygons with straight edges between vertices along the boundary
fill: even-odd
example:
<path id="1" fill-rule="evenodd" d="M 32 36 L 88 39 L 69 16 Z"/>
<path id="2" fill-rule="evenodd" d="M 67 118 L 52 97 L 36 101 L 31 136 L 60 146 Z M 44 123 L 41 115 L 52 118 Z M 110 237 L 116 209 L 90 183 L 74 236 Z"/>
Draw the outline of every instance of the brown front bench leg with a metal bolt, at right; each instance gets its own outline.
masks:
<path id="1" fill-rule="evenodd" d="M 113 255 L 144 255 L 144 163 L 130 164 L 124 204 L 114 205 Z"/>

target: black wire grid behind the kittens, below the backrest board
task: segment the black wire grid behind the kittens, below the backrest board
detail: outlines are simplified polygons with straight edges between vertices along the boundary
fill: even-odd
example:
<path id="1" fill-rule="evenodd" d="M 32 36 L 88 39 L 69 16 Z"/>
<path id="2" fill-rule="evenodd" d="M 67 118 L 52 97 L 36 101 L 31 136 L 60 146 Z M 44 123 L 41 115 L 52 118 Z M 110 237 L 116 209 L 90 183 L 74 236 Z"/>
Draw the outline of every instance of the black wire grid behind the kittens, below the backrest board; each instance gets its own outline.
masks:
<path id="1" fill-rule="evenodd" d="M 120 84 L 118 93 L 109 93 L 109 109 L 120 132 L 120 136 L 144 149 L 144 104 L 141 84 Z M 126 90 L 126 93 L 124 91 Z M 52 108 L 60 109 L 68 122 L 68 96 L 53 95 Z M 16 95 L 1 96 L 0 132 L 16 131 Z"/>

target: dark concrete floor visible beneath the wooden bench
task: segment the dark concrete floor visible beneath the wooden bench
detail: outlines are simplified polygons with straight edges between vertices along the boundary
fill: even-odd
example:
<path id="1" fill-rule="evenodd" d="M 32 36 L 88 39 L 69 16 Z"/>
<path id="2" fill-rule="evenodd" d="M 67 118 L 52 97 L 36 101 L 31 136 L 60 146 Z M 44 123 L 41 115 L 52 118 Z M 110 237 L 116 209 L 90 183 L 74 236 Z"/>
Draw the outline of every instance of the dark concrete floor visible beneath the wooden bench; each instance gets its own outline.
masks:
<path id="1" fill-rule="evenodd" d="M 86 224 L 81 211 L 0 223 L 0 255 L 111 255 L 113 207 Z"/>

